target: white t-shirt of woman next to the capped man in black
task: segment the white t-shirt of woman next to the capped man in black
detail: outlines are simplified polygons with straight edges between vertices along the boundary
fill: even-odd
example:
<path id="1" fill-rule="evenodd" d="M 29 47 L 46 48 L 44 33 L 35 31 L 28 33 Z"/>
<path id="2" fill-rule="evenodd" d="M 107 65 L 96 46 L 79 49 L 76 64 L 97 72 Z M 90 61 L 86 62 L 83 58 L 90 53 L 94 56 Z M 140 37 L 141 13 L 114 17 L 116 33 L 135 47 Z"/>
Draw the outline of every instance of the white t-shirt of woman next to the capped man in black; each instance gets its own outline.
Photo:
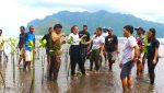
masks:
<path id="1" fill-rule="evenodd" d="M 102 44 L 105 43 L 105 38 L 103 36 L 95 36 L 92 40 L 92 49 L 101 48 Z"/>

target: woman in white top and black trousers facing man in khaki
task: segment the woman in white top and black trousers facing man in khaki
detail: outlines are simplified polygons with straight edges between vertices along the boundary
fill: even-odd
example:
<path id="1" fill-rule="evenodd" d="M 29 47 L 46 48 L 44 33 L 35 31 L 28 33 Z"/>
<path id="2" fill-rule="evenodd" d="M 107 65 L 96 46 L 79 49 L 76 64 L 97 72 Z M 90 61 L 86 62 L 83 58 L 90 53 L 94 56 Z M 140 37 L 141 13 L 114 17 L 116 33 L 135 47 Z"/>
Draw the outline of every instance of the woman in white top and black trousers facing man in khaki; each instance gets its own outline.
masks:
<path id="1" fill-rule="evenodd" d="M 69 35 L 69 39 L 72 39 L 71 46 L 70 46 L 70 62 L 71 62 L 71 75 L 75 75 L 75 66 L 77 62 L 79 65 L 79 68 L 82 72 L 82 74 L 85 74 L 85 71 L 83 70 L 83 65 L 80 61 L 80 37 L 79 37 L 79 27 L 78 25 L 73 25 L 71 27 L 71 34 Z"/>

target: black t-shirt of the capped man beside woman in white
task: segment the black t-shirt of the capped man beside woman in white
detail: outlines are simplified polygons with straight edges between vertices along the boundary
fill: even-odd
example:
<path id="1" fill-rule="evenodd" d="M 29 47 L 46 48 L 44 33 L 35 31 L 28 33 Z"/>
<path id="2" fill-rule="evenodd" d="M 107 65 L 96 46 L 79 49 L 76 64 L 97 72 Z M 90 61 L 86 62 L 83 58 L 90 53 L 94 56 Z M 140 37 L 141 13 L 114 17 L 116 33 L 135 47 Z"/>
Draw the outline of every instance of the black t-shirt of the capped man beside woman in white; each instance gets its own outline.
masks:
<path id="1" fill-rule="evenodd" d="M 116 35 L 107 36 L 105 38 L 105 49 L 108 53 L 115 51 L 117 49 L 118 39 Z"/>

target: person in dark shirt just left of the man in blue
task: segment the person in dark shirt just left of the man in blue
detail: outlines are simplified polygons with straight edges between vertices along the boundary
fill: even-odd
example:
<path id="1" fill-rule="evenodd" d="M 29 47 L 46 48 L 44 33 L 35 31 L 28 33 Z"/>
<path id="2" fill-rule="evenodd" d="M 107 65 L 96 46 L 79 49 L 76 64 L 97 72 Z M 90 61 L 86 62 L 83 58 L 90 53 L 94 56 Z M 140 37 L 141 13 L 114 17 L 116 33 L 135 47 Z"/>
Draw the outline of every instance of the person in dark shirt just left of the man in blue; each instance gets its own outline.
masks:
<path id="1" fill-rule="evenodd" d="M 17 47 L 20 49 L 20 57 L 19 57 L 19 63 L 17 63 L 19 67 L 20 67 L 22 59 L 23 59 L 23 63 L 25 61 L 24 50 L 23 50 L 24 49 L 24 40 L 25 40 L 25 27 L 21 26 L 20 32 L 21 32 L 21 34 L 20 34 L 20 39 L 19 39 L 19 44 L 17 44 Z"/>

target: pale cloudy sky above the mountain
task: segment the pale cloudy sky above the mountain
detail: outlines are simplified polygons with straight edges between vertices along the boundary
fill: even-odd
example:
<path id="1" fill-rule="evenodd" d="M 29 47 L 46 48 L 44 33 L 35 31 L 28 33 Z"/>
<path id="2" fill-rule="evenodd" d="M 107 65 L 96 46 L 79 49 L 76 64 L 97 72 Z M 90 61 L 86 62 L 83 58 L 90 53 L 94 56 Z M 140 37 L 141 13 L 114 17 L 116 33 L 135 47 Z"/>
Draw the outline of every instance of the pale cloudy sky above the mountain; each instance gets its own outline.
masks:
<path id="1" fill-rule="evenodd" d="M 143 20 L 164 23 L 164 0 L 1 0 L 0 28 L 8 36 L 20 33 L 20 26 L 59 11 L 106 10 L 132 14 Z"/>

